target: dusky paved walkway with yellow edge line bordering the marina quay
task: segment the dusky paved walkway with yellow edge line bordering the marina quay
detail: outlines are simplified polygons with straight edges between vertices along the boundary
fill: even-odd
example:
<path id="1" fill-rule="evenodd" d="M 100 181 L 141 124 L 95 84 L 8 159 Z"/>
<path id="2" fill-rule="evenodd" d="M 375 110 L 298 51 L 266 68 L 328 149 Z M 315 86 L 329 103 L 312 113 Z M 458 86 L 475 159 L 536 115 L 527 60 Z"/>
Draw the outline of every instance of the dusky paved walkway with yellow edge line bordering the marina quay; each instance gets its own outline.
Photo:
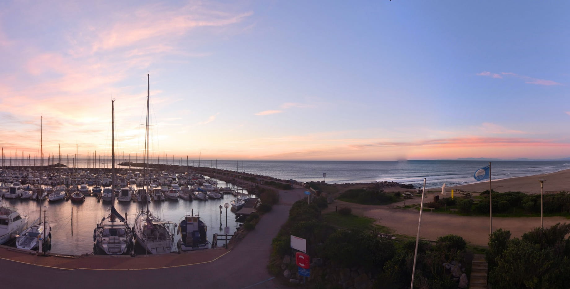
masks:
<path id="1" fill-rule="evenodd" d="M 280 202 L 232 250 L 70 259 L 0 249 L 2 287 L 279 288 L 267 272 L 271 241 L 287 220 L 292 203 L 304 197 L 304 189 L 279 194 Z"/>

